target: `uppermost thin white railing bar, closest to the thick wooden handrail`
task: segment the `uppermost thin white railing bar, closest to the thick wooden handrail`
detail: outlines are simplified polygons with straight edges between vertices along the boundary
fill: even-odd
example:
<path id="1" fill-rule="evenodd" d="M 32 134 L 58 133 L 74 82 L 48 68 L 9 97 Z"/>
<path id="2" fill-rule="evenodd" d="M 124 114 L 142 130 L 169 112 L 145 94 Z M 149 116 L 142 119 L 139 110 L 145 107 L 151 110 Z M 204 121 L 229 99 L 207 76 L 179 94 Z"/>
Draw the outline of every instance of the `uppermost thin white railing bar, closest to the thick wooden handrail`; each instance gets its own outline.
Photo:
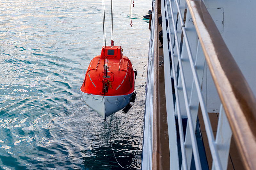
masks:
<path id="1" fill-rule="evenodd" d="M 194 60 L 193 60 L 193 57 L 192 57 L 192 52 L 191 52 L 190 45 L 189 45 L 189 42 L 188 42 L 187 32 L 186 32 L 185 27 L 184 27 L 185 25 L 184 25 L 184 22 L 183 22 L 183 16 L 182 16 L 182 13 L 180 11 L 178 1 L 175 0 L 175 2 L 176 2 L 178 12 L 179 12 L 180 24 L 182 25 L 181 29 L 182 29 L 182 32 L 183 32 L 183 37 L 184 37 L 185 44 L 186 44 L 187 51 L 188 51 L 188 58 L 189 58 L 189 61 L 190 61 L 190 66 L 191 66 L 192 74 L 193 74 L 193 77 L 194 77 L 194 82 L 195 82 L 195 85 L 196 85 L 196 91 L 197 91 L 199 103 L 200 103 L 200 106 L 201 106 L 201 111 L 202 111 L 202 115 L 203 115 L 203 119 L 204 119 L 204 125 L 205 125 L 205 131 L 206 131 L 206 134 L 207 134 L 210 150 L 211 150 L 211 153 L 212 153 L 212 159 L 214 160 L 213 162 L 216 164 L 215 165 L 216 168 L 221 170 L 222 167 L 220 165 L 220 157 L 219 157 L 218 152 L 217 152 L 217 148 L 216 148 L 216 145 L 215 145 L 215 140 L 214 140 L 214 136 L 213 136 L 213 132 L 212 132 L 211 122 L 210 122 L 210 119 L 209 119 L 209 116 L 208 116 L 208 112 L 206 111 L 206 106 L 205 106 L 205 102 L 204 102 L 203 93 L 202 93 L 202 90 L 201 90 L 201 85 L 199 84 L 198 75 L 196 73 L 196 67 L 195 67 L 195 64 L 194 64 Z"/>

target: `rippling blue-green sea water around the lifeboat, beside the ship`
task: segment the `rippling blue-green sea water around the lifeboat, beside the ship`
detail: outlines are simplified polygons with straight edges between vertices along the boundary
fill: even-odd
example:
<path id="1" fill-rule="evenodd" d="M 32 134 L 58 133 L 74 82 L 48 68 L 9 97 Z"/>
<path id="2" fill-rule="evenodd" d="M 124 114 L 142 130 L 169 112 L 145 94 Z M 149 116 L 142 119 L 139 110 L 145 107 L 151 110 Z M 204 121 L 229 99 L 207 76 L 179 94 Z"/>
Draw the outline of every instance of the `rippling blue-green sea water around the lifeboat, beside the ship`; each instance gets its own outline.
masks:
<path id="1" fill-rule="evenodd" d="M 108 117 L 117 159 L 132 162 L 145 104 L 151 1 L 113 1 L 114 41 L 138 71 L 136 103 Z M 110 45 L 111 1 L 105 1 Z M 122 169 L 106 122 L 80 87 L 103 46 L 102 1 L 0 1 L 0 169 Z M 132 168 L 140 169 L 141 146 Z"/>

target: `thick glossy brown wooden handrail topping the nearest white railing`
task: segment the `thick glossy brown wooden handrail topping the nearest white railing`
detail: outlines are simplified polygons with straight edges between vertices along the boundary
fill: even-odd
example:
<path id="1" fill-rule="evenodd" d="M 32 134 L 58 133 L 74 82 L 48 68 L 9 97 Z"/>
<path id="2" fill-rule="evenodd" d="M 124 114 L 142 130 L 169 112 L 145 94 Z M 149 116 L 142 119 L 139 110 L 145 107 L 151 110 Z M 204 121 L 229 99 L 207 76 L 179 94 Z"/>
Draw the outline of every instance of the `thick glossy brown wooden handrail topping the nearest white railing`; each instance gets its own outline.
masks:
<path id="1" fill-rule="evenodd" d="M 256 168 L 256 99 L 202 0 L 186 0 L 245 169 Z"/>

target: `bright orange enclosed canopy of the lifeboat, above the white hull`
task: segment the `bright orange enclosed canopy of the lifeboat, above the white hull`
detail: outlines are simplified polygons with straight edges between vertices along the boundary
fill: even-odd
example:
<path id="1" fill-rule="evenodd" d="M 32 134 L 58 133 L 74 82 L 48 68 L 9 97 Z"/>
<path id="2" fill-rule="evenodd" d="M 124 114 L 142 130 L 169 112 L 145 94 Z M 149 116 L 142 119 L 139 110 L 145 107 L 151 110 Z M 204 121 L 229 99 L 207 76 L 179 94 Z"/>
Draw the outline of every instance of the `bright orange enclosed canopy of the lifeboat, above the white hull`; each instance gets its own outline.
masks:
<path id="1" fill-rule="evenodd" d="M 107 78 L 104 64 L 108 66 Z M 108 81 L 108 92 L 104 93 L 103 81 Z M 123 56 L 120 46 L 103 46 L 101 55 L 94 57 L 85 74 L 81 91 L 94 95 L 119 96 L 134 91 L 134 71 L 131 61 Z"/>

